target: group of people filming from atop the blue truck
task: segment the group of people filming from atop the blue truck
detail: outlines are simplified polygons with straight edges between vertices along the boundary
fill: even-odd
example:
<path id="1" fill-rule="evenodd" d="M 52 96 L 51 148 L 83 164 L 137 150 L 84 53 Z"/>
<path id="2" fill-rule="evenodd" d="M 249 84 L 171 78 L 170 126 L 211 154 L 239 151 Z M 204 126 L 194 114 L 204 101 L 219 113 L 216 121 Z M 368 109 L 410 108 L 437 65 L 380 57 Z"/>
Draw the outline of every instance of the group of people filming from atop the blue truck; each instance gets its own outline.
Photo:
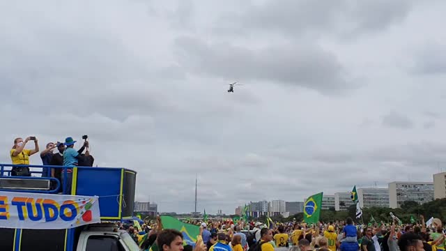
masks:
<path id="1" fill-rule="evenodd" d="M 72 181 L 72 167 L 93 167 L 94 158 L 89 151 L 89 141 L 87 136 L 82 137 L 84 144 L 76 151 L 74 149 L 76 141 L 72 137 L 67 137 L 65 142 L 48 142 L 45 150 L 40 152 L 42 160 L 42 177 L 57 178 L 60 184 L 65 184 L 66 193 L 70 193 Z M 26 144 L 34 142 L 34 149 L 26 149 Z M 54 149 L 58 152 L 54 153 Z M 86 151 L 85 151 L 86 150 Z M 11 176 L 31 176 L 29 169 L 29 158 L 40 151 L 37 137 L 18 137 L 14 139 L 14 145 L 10 150 L 10 158 L 13 162 Z M 85 153 L 84 153 L 85 151 Z M 61 166 L 66 168 L 52 168 L 45 166 Z M 64 182 L 65 180 L 65 182 Z M 52 184 L 53 185 L 53 184 Z"/>

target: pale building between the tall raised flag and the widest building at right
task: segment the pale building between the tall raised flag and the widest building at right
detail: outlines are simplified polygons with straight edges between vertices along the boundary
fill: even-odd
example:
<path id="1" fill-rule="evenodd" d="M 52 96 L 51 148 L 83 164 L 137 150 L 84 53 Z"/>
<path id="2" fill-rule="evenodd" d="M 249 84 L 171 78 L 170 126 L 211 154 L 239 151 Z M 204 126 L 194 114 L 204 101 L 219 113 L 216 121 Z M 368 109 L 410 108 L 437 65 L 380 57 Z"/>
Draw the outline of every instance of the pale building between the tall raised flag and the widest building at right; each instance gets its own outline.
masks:
<path id="1" fill-rule="evenodd" d="M 389 189 L 387 188 L 359 188 L 357 189 L 357 199 L 361 208 L 385 207 L 389 204 Z"/>

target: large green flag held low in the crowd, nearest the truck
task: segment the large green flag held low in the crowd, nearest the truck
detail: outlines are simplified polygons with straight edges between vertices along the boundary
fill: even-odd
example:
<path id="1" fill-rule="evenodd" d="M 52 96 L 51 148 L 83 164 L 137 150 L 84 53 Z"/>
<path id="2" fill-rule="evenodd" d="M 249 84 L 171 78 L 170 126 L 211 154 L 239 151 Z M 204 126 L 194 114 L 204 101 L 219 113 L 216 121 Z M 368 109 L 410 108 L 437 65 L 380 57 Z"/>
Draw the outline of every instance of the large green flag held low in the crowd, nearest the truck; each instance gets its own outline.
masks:
<path id="1" fill-rule="evenodd" d="M 176 229 L 180 231 L 183 234 L 183 243 L 185 245 L 195 246 L 197 236 L 200 232 L 199 226 L 180 222 L 180 220 L 171 216 L 161 216 L 161 222 L 163 229 Z"/>

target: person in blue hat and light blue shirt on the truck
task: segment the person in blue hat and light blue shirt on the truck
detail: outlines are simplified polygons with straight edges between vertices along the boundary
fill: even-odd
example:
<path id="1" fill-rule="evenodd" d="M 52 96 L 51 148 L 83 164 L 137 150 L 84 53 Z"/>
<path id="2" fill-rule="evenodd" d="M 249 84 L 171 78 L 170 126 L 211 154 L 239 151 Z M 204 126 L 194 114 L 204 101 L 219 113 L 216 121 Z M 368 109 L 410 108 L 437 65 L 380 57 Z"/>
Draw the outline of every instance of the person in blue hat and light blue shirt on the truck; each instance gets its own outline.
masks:
<path id="1" fill-rule="evenodd" d="M 63 166 L 64 167 L 77 167 L 79 163 L 79 158 L 81 155 L 74 149 L 76 141 L 72 137 L 67 137 L 65 139 L 64 145 L 67 146 L 65 151 L 63 151 Z M 66 174 L 65 174 L 66 173 Z M 64 192 L 67 195 L 71 194 L 71 183 L 72 183 L 72 168 L 66 168 L 62 170 L 62 182 L 66 177 L 66 184 L 64 187 Z"/>

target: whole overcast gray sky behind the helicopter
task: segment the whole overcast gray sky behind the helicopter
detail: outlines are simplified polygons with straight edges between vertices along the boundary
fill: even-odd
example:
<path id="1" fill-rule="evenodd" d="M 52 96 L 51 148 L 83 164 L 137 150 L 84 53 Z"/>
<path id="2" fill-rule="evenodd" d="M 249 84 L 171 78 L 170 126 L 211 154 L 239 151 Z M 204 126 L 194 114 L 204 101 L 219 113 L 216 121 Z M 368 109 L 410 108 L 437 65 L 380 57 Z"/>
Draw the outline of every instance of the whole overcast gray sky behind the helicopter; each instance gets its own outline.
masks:
<path id="1" fill-rule="evenodd" d="M 160 211 L 446 170 L 446 2 L 0 3 L 0 162 L 88 134 Z M 227 93 L 229 82 L 240 82 Z M 32 144 L 29 144 L 32 146 Z M 31 163 L 41 163 L 38 155 Z"/>

